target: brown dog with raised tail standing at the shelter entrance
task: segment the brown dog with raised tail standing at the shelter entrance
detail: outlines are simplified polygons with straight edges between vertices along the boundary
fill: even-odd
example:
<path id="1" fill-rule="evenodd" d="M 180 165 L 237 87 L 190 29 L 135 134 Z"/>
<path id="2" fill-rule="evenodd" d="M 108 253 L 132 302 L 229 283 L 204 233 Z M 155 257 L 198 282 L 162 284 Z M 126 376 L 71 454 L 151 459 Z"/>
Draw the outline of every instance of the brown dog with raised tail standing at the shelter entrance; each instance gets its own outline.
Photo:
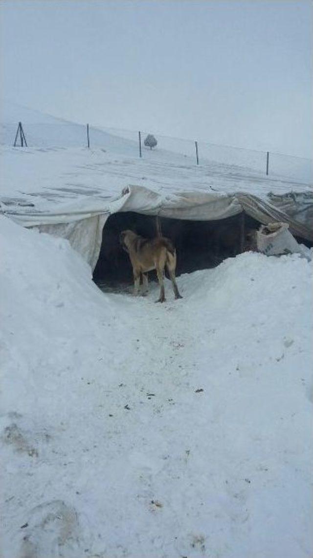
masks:
<path id="1" fill-rule="evenodd" d="M 160 298 L 157 302 L 164 302 L 165 291 L 163 275 L 166 267 L 172 281 L 175 299 L 182 299 L 175 279 L 176 251 L 171 240 L 168 238 L 154 238 L 153 240 L 148 240 L 147 238 L 140 237 L 132 230 L 123 230 L 119 238 L 123 248 L 128 252 L 133 266 L 135 295 L 138 295 L 140 275 L 142 275 L 143 294 L 147 294 L 148 277 L 146 273 L 151 270 L 156 270 L 161 288 Z"/>

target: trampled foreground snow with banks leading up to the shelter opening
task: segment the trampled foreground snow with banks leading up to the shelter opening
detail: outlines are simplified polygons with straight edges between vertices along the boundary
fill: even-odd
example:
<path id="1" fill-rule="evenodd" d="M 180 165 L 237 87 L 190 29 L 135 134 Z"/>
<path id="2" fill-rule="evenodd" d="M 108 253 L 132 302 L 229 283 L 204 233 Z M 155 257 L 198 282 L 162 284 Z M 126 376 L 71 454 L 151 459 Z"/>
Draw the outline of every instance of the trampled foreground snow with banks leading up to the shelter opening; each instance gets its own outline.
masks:
<path id="1" fill-rule="evenodd" d="M 312 263 L 244 253 L 157 305 L 0 234 L 2 555 L 310 556 Z"/>

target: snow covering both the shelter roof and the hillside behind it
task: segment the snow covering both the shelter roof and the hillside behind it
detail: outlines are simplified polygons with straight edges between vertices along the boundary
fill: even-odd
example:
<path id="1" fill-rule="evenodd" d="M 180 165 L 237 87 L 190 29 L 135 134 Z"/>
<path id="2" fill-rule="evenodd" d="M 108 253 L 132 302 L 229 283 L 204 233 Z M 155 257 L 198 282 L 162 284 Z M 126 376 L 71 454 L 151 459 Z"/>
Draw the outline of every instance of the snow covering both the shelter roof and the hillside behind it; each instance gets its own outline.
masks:
<path id="1" fill-rule="evenodd" d="M 266 197 L 270 192 L 277 195 L 312 192 L 309 160 L 303 160 L 310 167 L 305 170 L 305 177 L 298 169 L 300 158 L 283 156 L 279 156 L 275 174 L 266 176 L 257 152 L 246 151 L 239 157 L 238 150 L 203 145 L 205 161 L 197 166 L 194 142 L 177 138 L 170 141 L 160 136 L 157 148 L 142 146 L 143 157 L 139 158 L 137 132 L 127 136 L 123 131 L 110 133 L 108 129 L 90 128 L 88 149 L 86 127 L 82 124 L 9 102 L 1 104 L 1 111 L 0 201 L 5 204 L 23 208 L 33 204 L 41 211 L 49 211 L 69 199 L 120 195 L 130 184 L 164 195 L 171 191 L 245 191 Z M 19 121 L 24 124 L 28 147 L 12 147 Z M 124 133 L 124 137 L 119 133 Z"/>

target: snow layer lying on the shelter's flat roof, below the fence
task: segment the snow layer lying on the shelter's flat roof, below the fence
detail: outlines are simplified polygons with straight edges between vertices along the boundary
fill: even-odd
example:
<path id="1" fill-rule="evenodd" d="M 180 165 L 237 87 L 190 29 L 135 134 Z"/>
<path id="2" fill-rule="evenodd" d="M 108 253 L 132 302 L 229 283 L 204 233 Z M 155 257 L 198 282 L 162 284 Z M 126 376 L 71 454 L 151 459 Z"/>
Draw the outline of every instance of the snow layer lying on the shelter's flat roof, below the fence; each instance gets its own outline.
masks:
<path id="1" fill-rule="evenodd" d="M 150 151 L 150 150 L 148 150 Z M 0 148 L 1 209 L 12 215 L 68 213 L 69 208 L 89 207 L 94 200 L 107 206 L 129 185 L 144 186 L 167 198 L 190 192 L 214 195 L 244 192 L 266 203 L 289 201 L 294 219 L 309 219 L 312 187 L 286 180 L 273 180 L 251 170 L 218 165 L 184 166 L 163 154 L 155 160 L 139 160 L 101 149 L 66 148 L 35 150 Z M 157 158 L 160 157 L 160 158 Z M 179 156 L 177 156 L 179 157 Z M 275 199 L 275 196 L 277 199 Z M 99 205 L 99 204 L 98 204 Z M 295 217 L 295 214 L 297 217 Z M 307 224 L 309 226 L 309 224 Z"/>

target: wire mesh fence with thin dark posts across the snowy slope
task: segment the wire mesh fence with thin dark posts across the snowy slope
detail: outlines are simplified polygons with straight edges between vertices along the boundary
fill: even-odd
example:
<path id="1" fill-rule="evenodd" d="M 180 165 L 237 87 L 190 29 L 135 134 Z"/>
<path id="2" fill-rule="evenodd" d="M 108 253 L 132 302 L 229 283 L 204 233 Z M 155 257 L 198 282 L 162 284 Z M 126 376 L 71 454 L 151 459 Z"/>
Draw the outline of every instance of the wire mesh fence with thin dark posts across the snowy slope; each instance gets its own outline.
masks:
<path id="1" fill-rule="evenodd" d="M 156 143 L 151 140 L 155 138 Z M 313 161 L 281 153 L 214 145 L 204 141 L 184 140 L 147 131 L 60 123 L 3 123 L 0 143 L 33 148 L 102 148 L 108 153 L 139 157 L 151 162 L 179 166 L 209 166 L 210 172 L 238 174 L 244 167 L 256 175 L 282 177 L 312 184 Z M 240 167 L 240 169 L 238 168 Z M 256 176 L 257 178 L 257 176 Z"/>

